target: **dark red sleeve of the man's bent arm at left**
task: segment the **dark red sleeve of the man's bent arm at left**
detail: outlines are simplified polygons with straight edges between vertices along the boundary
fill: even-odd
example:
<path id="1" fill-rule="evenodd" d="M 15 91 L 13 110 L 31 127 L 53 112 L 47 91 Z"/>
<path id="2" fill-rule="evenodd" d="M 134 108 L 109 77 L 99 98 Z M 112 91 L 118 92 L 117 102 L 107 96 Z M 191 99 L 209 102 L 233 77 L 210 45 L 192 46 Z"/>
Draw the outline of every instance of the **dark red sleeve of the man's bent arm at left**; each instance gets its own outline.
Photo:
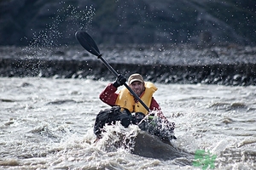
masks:
<path id="1" fill-rule="evenodd" d="M 109 83 L 108 86 L 100 94 L 100 99 L 102 100 L 102 102 L 113 106 L 115 105 L 115 101 L 118 97 L 118 94 L 115 94 L 116 91 L 117 88 L 113 86 L 113 83 Z"/>

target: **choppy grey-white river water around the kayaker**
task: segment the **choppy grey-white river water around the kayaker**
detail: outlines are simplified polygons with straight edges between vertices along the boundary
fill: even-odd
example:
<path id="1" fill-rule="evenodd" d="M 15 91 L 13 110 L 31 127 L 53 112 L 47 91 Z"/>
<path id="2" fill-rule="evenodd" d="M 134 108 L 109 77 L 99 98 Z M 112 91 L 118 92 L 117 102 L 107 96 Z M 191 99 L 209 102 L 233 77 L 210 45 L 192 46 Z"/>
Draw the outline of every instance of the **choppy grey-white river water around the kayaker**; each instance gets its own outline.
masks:
<path id="1" fill-rule="evenodd" d="M 93 143 L 96 114 L 108 108 L 98 99 L 106 85 L 90 79 L 0 77 L 0 168 L 205 169 L 195 163 L 199 157 L 210 162 L 208 169 L 256 169 L 255 86 L 156 83 L 154 98 L 176 123 L 177 139 L 166 145 L 144 136 L 146 142 L 137 144 L 144 149 L 136 154 L 136 126 L 108 127 Z M 131 145 L 117 147 L 122 143 L 117 133 Z M 167 151 L 154 155 L 157 150 Z"/>

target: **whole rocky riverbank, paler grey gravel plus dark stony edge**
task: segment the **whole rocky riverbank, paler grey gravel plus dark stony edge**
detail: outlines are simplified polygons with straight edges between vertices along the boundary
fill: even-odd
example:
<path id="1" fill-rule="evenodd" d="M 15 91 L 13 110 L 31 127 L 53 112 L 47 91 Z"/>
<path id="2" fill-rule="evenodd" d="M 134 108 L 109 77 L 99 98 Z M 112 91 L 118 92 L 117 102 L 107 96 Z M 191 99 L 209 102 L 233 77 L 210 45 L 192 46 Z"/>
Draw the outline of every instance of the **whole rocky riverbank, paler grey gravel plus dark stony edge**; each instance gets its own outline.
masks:
<path id="1" fill-rule="evenodd" d="M 198 48 L 169 44 L 99 48 L 113 69 L 126 77 L 139 72 L 146 80 L 160 83 L 256 84 L 256 48 L 253 47 Z M 79 46 L 1 47 L 0 76 L 114 80 L 100 59 Z"/>

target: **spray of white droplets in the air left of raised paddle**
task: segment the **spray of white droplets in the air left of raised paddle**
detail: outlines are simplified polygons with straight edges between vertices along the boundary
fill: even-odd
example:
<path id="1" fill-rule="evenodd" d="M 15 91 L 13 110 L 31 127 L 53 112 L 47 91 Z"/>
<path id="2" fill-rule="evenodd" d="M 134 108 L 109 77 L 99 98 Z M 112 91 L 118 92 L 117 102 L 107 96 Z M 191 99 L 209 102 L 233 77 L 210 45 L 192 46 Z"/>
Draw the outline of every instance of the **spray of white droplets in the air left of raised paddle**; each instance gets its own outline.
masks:
<path id="1" fill-rule="evenodd" d="M 19 64 L 24 67 L 21 70 L 31 69 L 32 76 L 42 77 L 42 63 L 44 63 L 42 59 L 53 57 L 59 59 L 65 54 L 65 50 L 61 50 L 61 46 L 68 48 L 69 45 L 73 45 L 72 43 L 75 42 L 73 41 L 74 32 L 90 29 L 95 8 L 86 6 L 80 9 L 66 3 L 61 3 L 61 6 L 63 7 L 57 9 L 54 16 L 49 17 L 50 21 L 45 29 L 34 31 L 32 39 L 28 42 L 29 45 L 21 48 L 20 54 L 17 54 L 24 59 Z M 65 42 L 65 45 L 61 45 L 62 42 Z"/>

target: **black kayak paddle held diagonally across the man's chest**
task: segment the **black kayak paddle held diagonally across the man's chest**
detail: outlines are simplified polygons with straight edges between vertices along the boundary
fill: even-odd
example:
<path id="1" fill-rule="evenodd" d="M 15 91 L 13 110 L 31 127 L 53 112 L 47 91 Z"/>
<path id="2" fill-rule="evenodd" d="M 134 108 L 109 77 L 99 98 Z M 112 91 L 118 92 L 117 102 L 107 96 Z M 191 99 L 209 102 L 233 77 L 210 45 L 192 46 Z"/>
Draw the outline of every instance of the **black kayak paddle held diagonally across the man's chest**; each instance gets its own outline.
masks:
<path id="1" fill-rule="evenodd" d="M 90 35 L 85 32 L 85 31 L 77 31 L 75 33 L 75 37 L 77 38 L 77 40 L 79 41 L 79 43 L 81 44 L 81 46 L 86 49 L 90 54 L 94 54 L 98 57 L 98 59 L 101 59 L 102 62 L 104 63 L 104 65 L 106 65 L 108 67 L 108 70 L 111 71 L 113 73 L 113 75 L 115 77 L 118 77 L 119 74 L 113 70 L 113 67 L 111 65 L 108 64 L 108 62 L 102 58 L 102 54 L 100 54 L 100 50 L 96 45 L 96 42 L 92 39 L 92 37 L 90 37 Z M 144 104 L 143 100 L 140 99 L 137 94 L 135 94 L 132 89 L 125 83 L 125 88 L 127 88 L 131 94 L 144 106 L 144 108 L 149 112 L 149 108 L 147 105 Z"/>

